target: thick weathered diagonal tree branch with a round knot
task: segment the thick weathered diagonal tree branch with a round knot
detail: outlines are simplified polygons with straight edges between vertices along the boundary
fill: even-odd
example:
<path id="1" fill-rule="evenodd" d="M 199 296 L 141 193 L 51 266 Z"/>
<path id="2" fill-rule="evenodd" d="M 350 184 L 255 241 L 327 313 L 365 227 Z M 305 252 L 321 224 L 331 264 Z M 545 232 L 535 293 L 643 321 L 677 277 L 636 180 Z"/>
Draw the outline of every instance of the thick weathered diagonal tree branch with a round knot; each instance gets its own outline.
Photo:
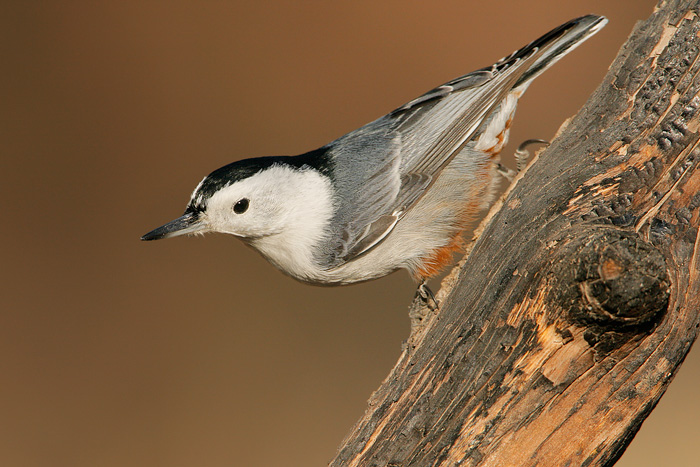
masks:
<path id="1" fill-rule="evenodd" d="M 492 210 L 333 466 L 612 465 L 700 314 L 700 1 L 633 31 Z"/>

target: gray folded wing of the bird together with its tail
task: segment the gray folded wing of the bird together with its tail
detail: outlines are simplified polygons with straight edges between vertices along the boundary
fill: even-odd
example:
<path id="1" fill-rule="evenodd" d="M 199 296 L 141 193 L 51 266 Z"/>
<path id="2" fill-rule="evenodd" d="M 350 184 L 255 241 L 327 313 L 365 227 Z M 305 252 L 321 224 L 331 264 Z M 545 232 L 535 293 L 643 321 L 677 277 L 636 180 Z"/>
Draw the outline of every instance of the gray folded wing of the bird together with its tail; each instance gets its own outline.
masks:
<path id="1" fill-rule="evenodd" d="M 592 36 L 605 18 L 571 20 L 488 68 L 439 86 L 328 145 L 336 231 L 324 263 L 337 267 L 379 244 L 514 88 Z"/>

